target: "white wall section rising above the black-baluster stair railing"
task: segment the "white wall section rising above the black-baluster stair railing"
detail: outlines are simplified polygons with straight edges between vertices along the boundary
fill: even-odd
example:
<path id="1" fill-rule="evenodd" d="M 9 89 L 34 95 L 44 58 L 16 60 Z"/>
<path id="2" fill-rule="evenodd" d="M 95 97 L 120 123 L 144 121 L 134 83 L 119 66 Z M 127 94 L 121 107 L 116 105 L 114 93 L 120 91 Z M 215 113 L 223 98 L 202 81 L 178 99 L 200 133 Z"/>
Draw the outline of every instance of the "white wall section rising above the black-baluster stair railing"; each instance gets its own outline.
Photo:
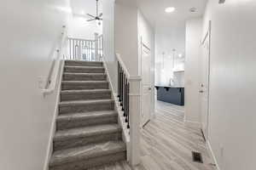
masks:
<path id="1" fill-rule="evenodd" d="M 137 76 L 139 73 L 137 7 L 132 1 L 116 1 L 114 9 L 115 51 L 120 54 L 131 76 Z"/>

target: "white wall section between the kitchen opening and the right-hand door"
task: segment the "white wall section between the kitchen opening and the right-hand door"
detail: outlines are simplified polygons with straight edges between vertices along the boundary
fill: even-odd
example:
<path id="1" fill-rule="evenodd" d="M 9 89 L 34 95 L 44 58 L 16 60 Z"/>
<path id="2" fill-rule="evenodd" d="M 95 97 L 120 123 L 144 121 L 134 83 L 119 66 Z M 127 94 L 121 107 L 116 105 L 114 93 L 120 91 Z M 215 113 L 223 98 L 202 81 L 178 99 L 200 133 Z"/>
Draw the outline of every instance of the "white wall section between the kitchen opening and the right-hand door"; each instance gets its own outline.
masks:
<path id="1" fill-rule="evenodd" d="M 199 85 L 201 82 L 202 18 L 186 22 L 185 122 L 201 122 Z"/>

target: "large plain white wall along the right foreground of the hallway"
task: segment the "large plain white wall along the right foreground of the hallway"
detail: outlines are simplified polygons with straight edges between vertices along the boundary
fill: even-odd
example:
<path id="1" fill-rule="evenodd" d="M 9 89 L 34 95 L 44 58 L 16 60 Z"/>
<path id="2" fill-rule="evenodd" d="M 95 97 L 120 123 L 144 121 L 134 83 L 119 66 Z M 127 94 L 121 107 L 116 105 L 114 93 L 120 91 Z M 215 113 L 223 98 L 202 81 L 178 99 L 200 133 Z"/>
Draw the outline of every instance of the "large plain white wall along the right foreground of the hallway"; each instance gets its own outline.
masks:
<path id="1" fill-rule="evenodd" d="M 255 8 L 209 0 L 204 18 L 204 32 L 212 20 L 209 140 L 221 170 L 255 169 Z"/>

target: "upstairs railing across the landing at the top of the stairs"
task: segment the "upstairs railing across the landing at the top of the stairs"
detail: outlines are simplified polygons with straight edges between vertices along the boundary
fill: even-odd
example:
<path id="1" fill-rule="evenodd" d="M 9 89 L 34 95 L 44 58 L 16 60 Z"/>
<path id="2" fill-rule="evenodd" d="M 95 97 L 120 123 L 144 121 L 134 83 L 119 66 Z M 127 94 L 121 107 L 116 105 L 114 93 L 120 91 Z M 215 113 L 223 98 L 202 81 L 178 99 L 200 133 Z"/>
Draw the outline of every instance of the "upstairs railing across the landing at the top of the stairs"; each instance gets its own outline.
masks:
<path id="1" fill-rule="evenodd" d="M 101 61 L 103 57 L 103 37 L 95 34 L 94 40 L 68 37 L 67 59 L 81 61 Z"/>

